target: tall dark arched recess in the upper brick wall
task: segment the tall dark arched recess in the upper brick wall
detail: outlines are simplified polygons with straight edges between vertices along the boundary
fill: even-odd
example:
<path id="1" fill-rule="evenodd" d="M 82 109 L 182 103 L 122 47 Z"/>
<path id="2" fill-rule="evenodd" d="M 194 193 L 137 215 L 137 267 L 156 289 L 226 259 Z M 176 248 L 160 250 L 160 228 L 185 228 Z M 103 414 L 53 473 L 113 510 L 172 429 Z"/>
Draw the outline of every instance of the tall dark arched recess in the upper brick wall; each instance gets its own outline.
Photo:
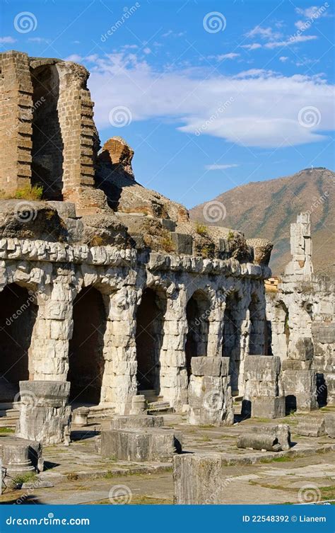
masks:
<path id="1" fill-rule="evenodd" d="M 42 185 L 46 200 L 63 200 L 63 140 L 59 124 L 59 73 L 55 64 L 32 70 L 32 184 Z"/>

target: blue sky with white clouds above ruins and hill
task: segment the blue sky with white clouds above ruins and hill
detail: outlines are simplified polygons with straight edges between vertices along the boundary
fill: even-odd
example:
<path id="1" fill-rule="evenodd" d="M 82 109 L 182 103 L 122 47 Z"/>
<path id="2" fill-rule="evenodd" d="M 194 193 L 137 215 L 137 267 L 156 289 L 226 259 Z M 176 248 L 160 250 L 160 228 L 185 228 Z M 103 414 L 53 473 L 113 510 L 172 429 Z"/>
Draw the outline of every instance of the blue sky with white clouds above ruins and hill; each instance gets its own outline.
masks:
<path id="1" fill-rule="evenodd" d="M 84 64 L 102 143 L 192 207 L 334 170 L 334 20 L 331 1 L 2 0 L 0 46 Z"/>

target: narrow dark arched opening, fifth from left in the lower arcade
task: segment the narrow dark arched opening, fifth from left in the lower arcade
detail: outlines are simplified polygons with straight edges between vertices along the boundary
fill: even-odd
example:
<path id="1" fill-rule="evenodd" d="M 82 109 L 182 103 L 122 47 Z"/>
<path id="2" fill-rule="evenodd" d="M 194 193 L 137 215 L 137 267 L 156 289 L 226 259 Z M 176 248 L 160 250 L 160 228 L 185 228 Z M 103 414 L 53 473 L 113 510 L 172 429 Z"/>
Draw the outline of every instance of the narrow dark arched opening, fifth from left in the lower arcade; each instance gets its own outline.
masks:
<path id="1" fill-rule="evenodd" d="M 229 292 L 225 299 L 222 355 L 230 358 L 229 372 L 232 393 L 237 396 L 241 362 L 241 316 L 240 299 L 235 291 Z"/>

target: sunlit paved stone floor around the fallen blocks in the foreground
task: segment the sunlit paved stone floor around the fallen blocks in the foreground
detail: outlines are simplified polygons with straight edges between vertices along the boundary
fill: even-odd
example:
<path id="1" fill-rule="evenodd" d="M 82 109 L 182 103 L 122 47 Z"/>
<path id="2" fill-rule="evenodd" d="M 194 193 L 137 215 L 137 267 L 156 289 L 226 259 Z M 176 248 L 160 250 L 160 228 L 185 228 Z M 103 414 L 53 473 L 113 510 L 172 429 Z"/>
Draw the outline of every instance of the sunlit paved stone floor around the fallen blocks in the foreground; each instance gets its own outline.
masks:
<path id="1" fill-rule="evenodd" d="M 311 416 L 320 416 L 320 411 Z M 236 437 L 251 425 L 268 420 L 245 420 L 230 427 L 196 427 L 181 415 L 165 415 L 165 425 L 182 430 L 186 452 L 223 452 L 230 461 L 225 466 L 225 503 L 301 503 L 335 500 L 335 442 L 329 437 L 295 435 L 298 415 L 288 423 L 292 440 L 290 452 L 254 452 L 237 449 Z M 117 462 L 98 454 L 101 427 L 109 421 L 97 420 L 72 433 L 69 447 L 44 449 L 47 470 L 40 478 L 49 488 L 7 489 L 0 503 L 172 503 L 172 466 L 168 463 Z M 3 434 L 1 439 L 6 438 Z M 293 453 L 294 452 L 294 453 Z M 257 464 L 249 464 L 256 461 Z M 19 501 L 21 503 L 21 501 Z"/>

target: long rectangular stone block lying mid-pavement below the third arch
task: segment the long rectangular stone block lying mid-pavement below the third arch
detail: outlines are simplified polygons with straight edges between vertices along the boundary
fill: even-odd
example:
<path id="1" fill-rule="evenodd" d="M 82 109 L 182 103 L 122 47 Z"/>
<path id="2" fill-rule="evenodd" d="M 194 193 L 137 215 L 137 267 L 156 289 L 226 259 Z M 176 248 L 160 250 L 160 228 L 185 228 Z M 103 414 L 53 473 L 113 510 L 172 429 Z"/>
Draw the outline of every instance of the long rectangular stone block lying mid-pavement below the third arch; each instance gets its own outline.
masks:
<path id="1" fill-rule="evenodd" d="M 182 451 L 182 435 L 170 429 L 107 430 L 101 432 L 102 457 L 123 461 L 170 461 Z"/>

